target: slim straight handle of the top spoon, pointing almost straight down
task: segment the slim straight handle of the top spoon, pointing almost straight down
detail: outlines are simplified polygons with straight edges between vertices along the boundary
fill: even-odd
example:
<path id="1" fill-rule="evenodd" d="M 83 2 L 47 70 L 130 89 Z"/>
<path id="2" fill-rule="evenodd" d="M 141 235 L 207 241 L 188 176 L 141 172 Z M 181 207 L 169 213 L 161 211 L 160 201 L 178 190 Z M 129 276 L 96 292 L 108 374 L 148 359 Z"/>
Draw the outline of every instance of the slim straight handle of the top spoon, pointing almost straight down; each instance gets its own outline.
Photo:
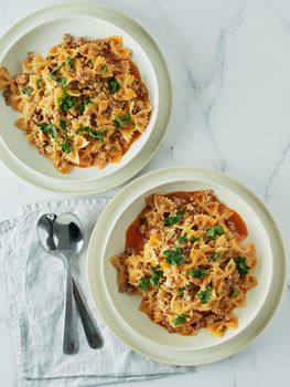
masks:
<path id="1" fill-rule="evenodd" d="M 72 287 L 71 264 L 67 263 L 66 264 L 64 334 L 63 334 L 63 353 L 66 355 L 72 355 L 76 352 L 72 290 L 73 287 Z"/>

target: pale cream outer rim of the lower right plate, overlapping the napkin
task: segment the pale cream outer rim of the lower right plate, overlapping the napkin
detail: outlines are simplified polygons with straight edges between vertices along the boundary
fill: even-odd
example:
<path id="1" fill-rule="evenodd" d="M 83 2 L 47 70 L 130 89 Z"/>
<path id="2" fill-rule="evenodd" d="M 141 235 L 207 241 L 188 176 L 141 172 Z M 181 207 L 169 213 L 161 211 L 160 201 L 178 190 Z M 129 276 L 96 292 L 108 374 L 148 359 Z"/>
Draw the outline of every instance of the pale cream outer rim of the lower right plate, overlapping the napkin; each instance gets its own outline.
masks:
<path id="1" fill-rule="evenodd" d="M 200 351 L 170 351 L 168 348 L 152 348 L 150 343 L 135 335 L 131 331 L 128 331 L 123 325 L 119 326 L 118 320 L 114 314 L 114 311 L 109 308 L 109 303 L 106 300 L 106 293 L 104 291 L 100 268 L 101 255 L 106 243 L 106 230 L 109 228 L 110 219 L 114 219 L 114 215 L 118 211 L 120 203 L 128 199 L 129 196 L 133 196 L 133 192 L 138 187 L 147 184 L 150 179 L 158 177 L 160 184 L 176 180 L 192 179 L 198 180 L 204 179 L 206 182 L 216 181 L 232 189 L 237 195 L 243 197 L 244 200 L 250 203 L 258 217 L 262 219 L 266 224 L 267 233 L 270 239 L 272 253 L 276 258 L 273 268 L 273 275 L 271 281 L 270 297 L 260 310 L 258 316 L 243 331 L 243 335 L 237 335 L 224 344 L 217 345 L 213 348 L 200 349 Z M 277 224 L 265 207 L 265 205 L 254 195 L 249 189 L 244 187 L 237 180 L 216 171 L 210 171 L 206 169 L 193 168 L 193 167 L 171 167 L 161 170 L 157 170 L 147 174 L 127 187 L 125 187 L 116 197 L 109 202 L 104 210 L 97 224 L 95 226 L 89 245 L 88 245 L 88 281 L 93 297 L 96 306 L 106 322 L 109 330 L 119 337 L 123 343 L 129 345 L 136 352 L 148 356 L 154 360 L 162 363 L 174 364 L 174 365 L 198 365 L 206 364 L 230 356 L 241 351 L 251 339 L 254 339 L 267 325 L 272 314 L 275 313 L 280 296 L 282 294 L 283 284 L 286 280 L 286 255 L 282 239 Z"/>

